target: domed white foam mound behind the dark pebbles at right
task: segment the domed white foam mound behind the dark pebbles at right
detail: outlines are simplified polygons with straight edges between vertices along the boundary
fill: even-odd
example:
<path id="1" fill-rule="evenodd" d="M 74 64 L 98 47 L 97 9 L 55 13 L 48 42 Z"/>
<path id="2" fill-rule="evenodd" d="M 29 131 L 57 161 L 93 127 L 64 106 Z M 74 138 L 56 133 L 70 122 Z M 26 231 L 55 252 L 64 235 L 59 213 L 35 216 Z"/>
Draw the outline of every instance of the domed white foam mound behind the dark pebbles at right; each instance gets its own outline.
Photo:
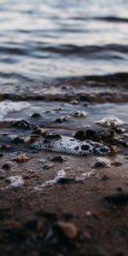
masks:
<path id="1" fill-rule="evenodd" d="M 120 126 L 124 124 L 124 122 L 121 119 L 117 118 L 114 115 L 108 115 L 103 119 L 96 120 L 95 123 L 105 127 L 114 127 L 114 126 Z"/>

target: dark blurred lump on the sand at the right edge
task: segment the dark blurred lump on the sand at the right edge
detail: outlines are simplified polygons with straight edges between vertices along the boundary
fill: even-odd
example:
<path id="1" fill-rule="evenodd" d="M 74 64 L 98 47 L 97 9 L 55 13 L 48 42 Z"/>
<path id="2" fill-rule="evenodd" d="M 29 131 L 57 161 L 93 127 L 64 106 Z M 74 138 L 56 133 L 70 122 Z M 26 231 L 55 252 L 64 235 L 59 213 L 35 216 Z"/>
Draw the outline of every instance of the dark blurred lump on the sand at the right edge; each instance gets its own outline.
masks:
<path id="1" fill-rule="evenodd" d="M 105 196 L 103 203 L 108 205 L 125 205 L 128 203 L 128 193 L 119 192 L 112 195 Z"/>

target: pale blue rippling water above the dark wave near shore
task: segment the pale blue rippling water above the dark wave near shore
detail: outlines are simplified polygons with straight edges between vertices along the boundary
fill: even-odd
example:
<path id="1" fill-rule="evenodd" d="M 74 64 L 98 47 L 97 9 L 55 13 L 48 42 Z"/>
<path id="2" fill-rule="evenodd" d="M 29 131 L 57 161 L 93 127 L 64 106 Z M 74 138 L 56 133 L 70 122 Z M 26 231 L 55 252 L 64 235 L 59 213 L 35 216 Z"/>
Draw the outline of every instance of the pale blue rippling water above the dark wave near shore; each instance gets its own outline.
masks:
<path id="1" fill-rule="evenodd" d="M 127 0 L 0 0 L 1 86 L 127 73 L 127 9 Z"/>

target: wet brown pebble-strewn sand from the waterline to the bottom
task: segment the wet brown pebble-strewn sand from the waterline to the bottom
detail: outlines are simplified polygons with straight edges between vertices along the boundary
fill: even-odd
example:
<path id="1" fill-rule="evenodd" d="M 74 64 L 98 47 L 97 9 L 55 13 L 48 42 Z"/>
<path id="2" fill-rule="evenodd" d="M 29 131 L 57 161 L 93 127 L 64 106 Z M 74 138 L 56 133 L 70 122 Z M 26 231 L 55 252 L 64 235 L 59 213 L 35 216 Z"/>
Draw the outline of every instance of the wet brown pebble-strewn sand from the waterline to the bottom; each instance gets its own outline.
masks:
<path id="1" fill-rule="evenodd" d="M 128 125 L 118 133 L 124 141 L 119 150 L 102 156 L 109 167 L 92 166 L 101 157 L 96 154 L 38 150 L 30 143 L 30 136 L 36 135 L 32 125 L 70 137 L 81 128 L 107 131 L 94 121 L 110 112 L 125 121 L 126 104 L 30 104 L 27 110 L 9 113 L 0 124 L 1 255 L 127 255 Z M 87 117 L 73 117 L 75 109 L 86 111 Z M 67 120 L 56 121 L 65 115 Z M 17 118 L 26 125 L 14 125 Z M 59 172 L 64 176 L 56 178 Z M 12 177 L 18 177 L 18 184 Z"/>

